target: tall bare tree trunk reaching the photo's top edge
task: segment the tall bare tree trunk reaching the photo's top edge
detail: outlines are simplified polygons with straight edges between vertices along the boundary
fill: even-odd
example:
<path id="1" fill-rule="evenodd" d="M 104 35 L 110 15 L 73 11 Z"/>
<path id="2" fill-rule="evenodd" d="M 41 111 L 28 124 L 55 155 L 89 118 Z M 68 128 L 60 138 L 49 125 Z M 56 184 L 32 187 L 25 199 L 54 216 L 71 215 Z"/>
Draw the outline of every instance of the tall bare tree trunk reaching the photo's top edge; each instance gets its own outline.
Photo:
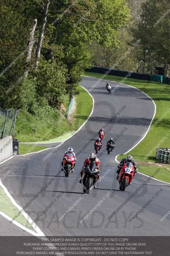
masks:
<path id="1" fill-rule="evenodd" d="M 40 52 L 41 52 L 41 47 L 42 47 L 42 40 L 44 37 L 44 31 L 45 31 L 45 26 L 46 26 L 46 22 L 47 22 L 47 16 L 48 16 L 48 7 L 50 5 L 50 1 L 51 0 L 46 0 L 46 5 L 45 5 L 45 10 L 44 10 L 44 15 L 43 15 L 43 19 L 42 19 L 42 26 L 41 26 L 41 30 L 40 30 L 40 36 L 38 38 L 38 46 L 37 46 L 37 51 L 36 51 L 36 56 L 35 56 L 35 65 L 37 69 L 38 67 L 38 62 L 40 59 Z"/>

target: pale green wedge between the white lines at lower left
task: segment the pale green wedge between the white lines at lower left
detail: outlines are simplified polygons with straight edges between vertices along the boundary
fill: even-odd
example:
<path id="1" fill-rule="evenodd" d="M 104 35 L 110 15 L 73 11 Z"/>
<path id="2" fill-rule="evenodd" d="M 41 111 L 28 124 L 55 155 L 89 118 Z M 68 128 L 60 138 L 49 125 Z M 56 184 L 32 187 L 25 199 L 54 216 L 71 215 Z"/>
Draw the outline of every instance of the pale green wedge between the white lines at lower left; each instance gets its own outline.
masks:
<path id="1" fill-rule="evenodd" d="M 5 194 L 3 188 L 0 186 L 0 211 L 7 214 L 11 219 L 19 212 L 18 208 L 11 203 L 9 197 Z M 17 222 L 22 224 L 24 227 L 29 228 L 35 232 L 33 227 L 25 219 L 25 217 L 20 214 L 16 219 Z"/>

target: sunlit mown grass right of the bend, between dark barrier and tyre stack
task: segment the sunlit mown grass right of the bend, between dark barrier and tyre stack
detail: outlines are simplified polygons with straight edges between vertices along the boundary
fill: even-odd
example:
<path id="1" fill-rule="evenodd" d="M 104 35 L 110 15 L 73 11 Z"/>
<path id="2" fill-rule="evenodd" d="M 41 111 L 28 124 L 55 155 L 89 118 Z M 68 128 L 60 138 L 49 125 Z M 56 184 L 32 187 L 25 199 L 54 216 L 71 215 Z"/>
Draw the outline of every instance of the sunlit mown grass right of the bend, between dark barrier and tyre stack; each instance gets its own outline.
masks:
<path id="1" fill-rule="evenodd" d="M 96 78 L 100 78 L 102 76 L 102 74 L 91 72 L 85 72 L 84 75 Z M 121 82 L 123 77 L 107 75 L 104 79 Z M 126 82 L 124 83 L 132 85 L 137 89 L 145 92 L 152 98 L 152 100 L 154 100 L 157 107 L 156 115 L 151 126 L 153 127 L 153 130 L 150 129 L 145 139 L 140 144 L 138 144 L 136 148 L 132 149 L 128 154 L 133 155 L 136 161 L 160 163 L 155 158 L 156 149 L 154 149 L 154 147 L 159 144 L 159 148 L 170 148 L 170 114 L 166 114 L 166 116 L 164 116 L 160 122 L 158 121 L 159 118 L 162 117 L 166 111 L 170 110 L 170 85 L 137 80 L 133 78 L 127 78 Z M 166 134 L 168 134 L 168 136 Z M 167 137 L 165 140 L 163 139 L 164 136 Z M 149 156 L 145 157 L 148 154 Z M 125 155 L 119 155 L 118 159 L 122 159 L 123 157 L 125 157 Z M 147 171 L 147 174 L 150 174 L 150 168 Z"/>

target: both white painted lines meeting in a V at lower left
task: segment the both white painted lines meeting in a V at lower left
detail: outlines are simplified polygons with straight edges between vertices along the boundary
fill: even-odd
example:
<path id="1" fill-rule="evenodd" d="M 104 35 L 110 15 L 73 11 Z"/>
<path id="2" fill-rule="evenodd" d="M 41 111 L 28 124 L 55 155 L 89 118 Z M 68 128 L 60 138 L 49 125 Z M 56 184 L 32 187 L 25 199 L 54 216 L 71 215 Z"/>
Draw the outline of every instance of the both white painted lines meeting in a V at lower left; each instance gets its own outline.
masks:
<path id="1" fill-rule="evenodd" d="M 19 206 L 19 205 L 15 202 L 15 200 L 13 199 L 13 197 L 11 196 L 11 194 L 8 192 L 7 188 L 3 185 L 3 183 L 1 182 L 1 180 L 0 180 L 0 186 L 3 188 L 5 194 L 6 194 L 6 195 L 8 196 L 8 198 L 11 200 L 11 203 L 12 203 L 13 205 L 15 205 L 15 206 L 18 208 L 19 212 L 20 212 L 20 211 L 22 210 L 22 207 Z M 24 212 L 24 211 L 21 212 L 21 213 L 22 213 L 22 215 L 25 217 L 25 219 L 26 219 L 26 220 L 30 223 L 30 225 L 31 225 L 31 223 L 33 222 L 33 220 L 29 217 L 29 215 L 28 215 L 26 212 Z M 0 212 L 0 214 L 1 214 L 1 212 Z M 1 214 L 1 215 L 2 215 L 2 214 Z M 2 215 L 2 216 L 3 216 L 3 215 Z M 7 215 L 6 215 L 6 217 L 7 217 Z M 5 217 L 5 218 L 6 218 L 6 217 Z M 8 216 L 8 217 L 9 217 L 9 216 Z M 10 218 L 10 217 L 9 217 L 9 218 Z M 10 218 L 10 220 L 12 220 L 12 218 Z M 14 221 L 12 221 L 12 223 L 14 223 Z M 17 221 L 15 221 L 14 224 L 19 227 Z M 31 225 L 31 226 L 32 226 L 32 225 Z M 33 226 L 32 226 L 32 227 L 33 227 Z M 26 228 L 26 227 L 24 227 L 24 226 L 23 226 L 23 228 L 24 228 L 27 232 L 29 232 L 30 234 L 32 234 L 33 236 L 45 236 L 44 233 L 41 231 L 41 229 L 40 229 L 37 225 L 35 225 L 35 227 L 33 227 L 36 232 L 33 232 L 32 230 L 30 230 L 30 229 L 28 229 L 28 228 Z"/>

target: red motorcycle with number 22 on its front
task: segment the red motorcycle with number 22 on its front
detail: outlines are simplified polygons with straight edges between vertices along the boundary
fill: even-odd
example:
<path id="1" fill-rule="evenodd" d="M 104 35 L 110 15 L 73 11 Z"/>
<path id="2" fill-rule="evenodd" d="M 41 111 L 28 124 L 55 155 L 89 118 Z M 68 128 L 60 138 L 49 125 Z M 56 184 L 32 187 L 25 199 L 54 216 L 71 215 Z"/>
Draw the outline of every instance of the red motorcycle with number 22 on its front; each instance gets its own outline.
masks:
<path id="1" fill-rule="evenodd" d="M 120 174 L 119 174 L 119 189 L 125 191 L 125 188 L 132 182 L 133 176 L 135 174 L 134 166 L 130 162 L 124 163 Z"/>

